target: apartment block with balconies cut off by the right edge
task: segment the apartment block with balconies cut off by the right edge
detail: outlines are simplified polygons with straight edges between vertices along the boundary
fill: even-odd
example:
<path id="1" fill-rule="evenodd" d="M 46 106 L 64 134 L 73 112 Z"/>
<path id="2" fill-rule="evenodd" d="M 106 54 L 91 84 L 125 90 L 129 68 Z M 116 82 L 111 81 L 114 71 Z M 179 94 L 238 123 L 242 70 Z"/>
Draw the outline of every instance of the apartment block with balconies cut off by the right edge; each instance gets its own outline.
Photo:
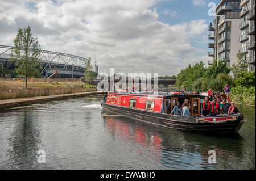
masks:
<path id="1" fill-rule="evenodd" d="M 255 0 L 242 0 L 240 24 L 241 36 L 241 52 L 246 53 L 248 70 L 255 70 Z"/>

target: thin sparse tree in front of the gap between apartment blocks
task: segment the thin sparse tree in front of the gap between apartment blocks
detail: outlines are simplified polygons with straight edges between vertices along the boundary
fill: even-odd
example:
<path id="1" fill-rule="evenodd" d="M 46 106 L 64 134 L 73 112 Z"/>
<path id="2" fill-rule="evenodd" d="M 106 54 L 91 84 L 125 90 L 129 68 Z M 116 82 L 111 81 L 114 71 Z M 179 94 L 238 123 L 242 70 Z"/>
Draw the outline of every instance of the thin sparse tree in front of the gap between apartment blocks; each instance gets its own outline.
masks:
<path id="1" fill-rule="evenodd" d="M 231 71 L 233 73 L 234 78 L 238 77 L 238 74 L 241 71 L 247 71 L 247 61 L 246 61 L 246 54 L 245 53 L 241 53 L 241 51 L 239 51 L 237 54 L 237 65 L 233 64 Z"/>

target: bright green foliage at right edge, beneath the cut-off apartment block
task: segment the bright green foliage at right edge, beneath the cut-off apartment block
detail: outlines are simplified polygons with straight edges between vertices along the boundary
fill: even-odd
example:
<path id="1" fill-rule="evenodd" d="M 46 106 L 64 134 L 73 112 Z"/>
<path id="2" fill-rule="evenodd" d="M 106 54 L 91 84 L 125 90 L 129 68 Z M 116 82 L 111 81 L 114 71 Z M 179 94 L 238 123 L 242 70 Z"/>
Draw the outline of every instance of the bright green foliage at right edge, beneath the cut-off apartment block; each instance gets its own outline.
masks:
<path id="1" fill-rule="evenodd" d="M 255 86 L 255 70 L 254 71 L 242 71 L 237 74 L 237 78 L 234 83 L 243 87 Z"/>

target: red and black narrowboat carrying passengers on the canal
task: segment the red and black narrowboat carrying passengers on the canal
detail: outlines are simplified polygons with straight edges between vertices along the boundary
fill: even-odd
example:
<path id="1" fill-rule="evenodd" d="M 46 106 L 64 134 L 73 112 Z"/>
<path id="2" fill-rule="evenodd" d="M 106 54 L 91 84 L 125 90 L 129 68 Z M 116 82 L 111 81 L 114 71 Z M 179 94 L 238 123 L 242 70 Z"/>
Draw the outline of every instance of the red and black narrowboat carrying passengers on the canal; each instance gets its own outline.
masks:
<path id="1" fill-rule="evenodd" d="M 236 115 L 200 116 L 205 96 L 183 92 L 126 93 L 108 92 L 104 95 L 103 111 L 124 115 L 135 120 L 174 129 L 203 134 L 236 134 L 246 122 L 241 113 Z M 191 116 L 170 115 L 175 102 L 189 100 Z"/>

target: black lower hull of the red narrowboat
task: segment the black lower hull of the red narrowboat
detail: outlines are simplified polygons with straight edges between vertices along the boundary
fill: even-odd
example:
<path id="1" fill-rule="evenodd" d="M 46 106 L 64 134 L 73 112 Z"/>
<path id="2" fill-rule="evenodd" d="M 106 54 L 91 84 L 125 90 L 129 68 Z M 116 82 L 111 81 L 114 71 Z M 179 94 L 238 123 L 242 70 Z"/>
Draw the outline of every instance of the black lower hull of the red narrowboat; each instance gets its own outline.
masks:
<path id="1" fill-rule="evenodd" d="M 227 121 L 225 123 L 207 123 L 196 121 L 196 116 L 175 116 L 159 112 L 139 110 L 137 108 L 116 106 L 103 103 L 103 111 L 124 115 L 131 119 L 170 128 L 176 131 L 201 133 L 201 134 L 236 134 L 243 122 L 240 120 Z"/>

